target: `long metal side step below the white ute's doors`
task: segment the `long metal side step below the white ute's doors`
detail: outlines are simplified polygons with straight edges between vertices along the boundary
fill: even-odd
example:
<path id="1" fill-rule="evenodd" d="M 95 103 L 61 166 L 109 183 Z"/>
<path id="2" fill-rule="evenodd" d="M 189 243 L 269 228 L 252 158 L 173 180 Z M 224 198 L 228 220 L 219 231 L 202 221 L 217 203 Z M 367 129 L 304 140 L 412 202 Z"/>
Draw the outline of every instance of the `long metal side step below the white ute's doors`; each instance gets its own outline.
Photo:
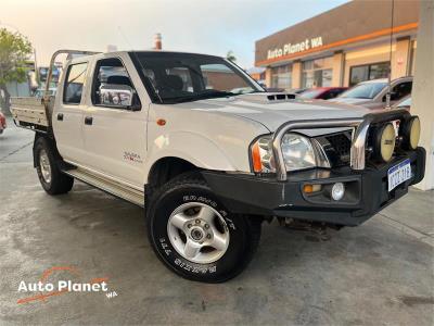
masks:
<path id="1" fill-rule="evenodd" d="M 105 192 L 125 199 L 141 208 L 144 206 L 143 191 L 139 191 L 126 185 L 97 176 L 80 167 L 74 170 L 64 170 L 62 172 L 74 178 L 79 179 L 80 181 L 84 181 L 85 184 L 89 184 L 95 188 L 99 188 Z"/>

